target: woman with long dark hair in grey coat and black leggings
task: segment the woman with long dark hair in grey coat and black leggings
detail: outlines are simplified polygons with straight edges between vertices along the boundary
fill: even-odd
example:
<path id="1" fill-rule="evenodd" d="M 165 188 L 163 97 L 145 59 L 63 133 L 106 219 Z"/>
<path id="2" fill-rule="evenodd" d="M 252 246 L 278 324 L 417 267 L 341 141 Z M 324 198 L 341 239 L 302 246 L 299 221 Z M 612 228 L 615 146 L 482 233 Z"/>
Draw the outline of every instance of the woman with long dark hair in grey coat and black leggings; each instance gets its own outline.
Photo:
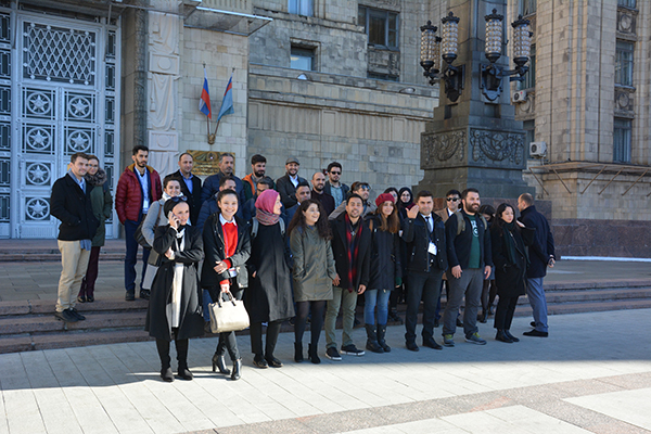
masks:
<path id="1" fill-rule="evenodd" d="M 294 258 L 294 360 L 303 361 L 303 333 L 307 315 L 311 310 L 311 339 L 307 354 L 312 363 L 320 363 L 317 348 L 323 328 L 326 302 L 332 299 L 333 283 L 339 284 L 330 245 L 332 232 L 323 206 L 315 200 L 302 202 L 290 222 L 288 233 Z"/>

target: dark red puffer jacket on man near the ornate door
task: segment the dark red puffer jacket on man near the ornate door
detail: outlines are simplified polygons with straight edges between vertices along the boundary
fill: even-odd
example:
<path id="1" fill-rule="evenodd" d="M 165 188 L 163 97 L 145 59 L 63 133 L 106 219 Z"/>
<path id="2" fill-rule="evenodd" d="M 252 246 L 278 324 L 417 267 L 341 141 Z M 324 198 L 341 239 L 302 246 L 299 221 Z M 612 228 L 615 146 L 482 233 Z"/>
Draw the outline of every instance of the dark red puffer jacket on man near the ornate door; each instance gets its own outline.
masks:
<path id="1" fill-rule="evenodd" d="M 126 220 L 138 221 L 140 210 L 142 208 L 142 189 L 140 181 L 133 171 L 136 163 L 130 164 L 125 168 L 119 181 L 117 181 L 117 190 L 115 192 L 115 210 L 120 224 Z M 161 177 L 153 167 L 146 166 L 149 173 L 149 187 L 151 201 L 150 204 L 159 200 L 163 196 L 163 188 L 161 187 Z"/>

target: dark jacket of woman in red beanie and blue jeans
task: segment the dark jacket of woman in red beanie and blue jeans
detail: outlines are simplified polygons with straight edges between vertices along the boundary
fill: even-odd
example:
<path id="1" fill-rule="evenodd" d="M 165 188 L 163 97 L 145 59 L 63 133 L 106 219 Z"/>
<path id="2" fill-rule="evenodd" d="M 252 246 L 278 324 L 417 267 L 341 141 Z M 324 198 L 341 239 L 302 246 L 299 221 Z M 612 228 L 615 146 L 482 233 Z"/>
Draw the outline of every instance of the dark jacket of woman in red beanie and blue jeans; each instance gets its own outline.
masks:
<path id="1" fill-rule="evenodd" d="M 400 237 L 380 230 L 380 218 L 374 215 L 367 219 L 369 227 L 372 226 L 369 290 L 391 291 L 396 286 L 396 279 L 403 278 Z"/>

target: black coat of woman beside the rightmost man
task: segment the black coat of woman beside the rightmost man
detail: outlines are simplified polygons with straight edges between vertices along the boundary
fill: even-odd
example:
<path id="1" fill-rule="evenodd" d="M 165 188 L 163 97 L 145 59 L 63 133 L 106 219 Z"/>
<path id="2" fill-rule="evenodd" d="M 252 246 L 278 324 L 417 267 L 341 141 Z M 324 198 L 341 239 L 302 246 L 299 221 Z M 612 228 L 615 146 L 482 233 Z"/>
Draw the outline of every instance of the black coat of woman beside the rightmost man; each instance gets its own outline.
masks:
<path id="1" fill-rule="evenodd" d="M 509 258 L 505 237 L 511 237 L 507 228 L 497 225 L 490 227 L 490 245 L 493 248 L 493 261 L 495 263 L 495 283 L 497 295 L 500 297 L 516 297 L 524 295 L 525 275 L 528 266 L 528 257 L 525 245 L 534 241 L 535 229 L 513 229 L 510 233 L 515 241 L 515 260 Z"/>

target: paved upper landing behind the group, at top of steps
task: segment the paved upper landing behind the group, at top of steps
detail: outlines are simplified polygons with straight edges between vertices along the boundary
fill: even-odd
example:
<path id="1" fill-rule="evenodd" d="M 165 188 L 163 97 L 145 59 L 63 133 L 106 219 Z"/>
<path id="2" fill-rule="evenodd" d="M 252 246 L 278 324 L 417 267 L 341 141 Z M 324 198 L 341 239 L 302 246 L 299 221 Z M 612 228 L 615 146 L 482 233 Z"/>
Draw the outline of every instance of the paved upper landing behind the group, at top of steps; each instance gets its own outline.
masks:
<path id="1" fill-rule="evenodd" d="M 140 276 L 140 264 L 136 270 Z M 95 298 L 124 297 L 124 263 L 102 260 L 95 284 Z M 0 263 L 0 302 L 26 299 L 56 299 L 61 263 L 26 261 Z M 138 278 L 140 279 L 140 277 Z M 571 285 L 591 288 L 603 282 L 626 282 L 651 285 L 651 263 L 622 263 L 601 260 L 560 260 L 549 269 L 545 288 Z"/>

